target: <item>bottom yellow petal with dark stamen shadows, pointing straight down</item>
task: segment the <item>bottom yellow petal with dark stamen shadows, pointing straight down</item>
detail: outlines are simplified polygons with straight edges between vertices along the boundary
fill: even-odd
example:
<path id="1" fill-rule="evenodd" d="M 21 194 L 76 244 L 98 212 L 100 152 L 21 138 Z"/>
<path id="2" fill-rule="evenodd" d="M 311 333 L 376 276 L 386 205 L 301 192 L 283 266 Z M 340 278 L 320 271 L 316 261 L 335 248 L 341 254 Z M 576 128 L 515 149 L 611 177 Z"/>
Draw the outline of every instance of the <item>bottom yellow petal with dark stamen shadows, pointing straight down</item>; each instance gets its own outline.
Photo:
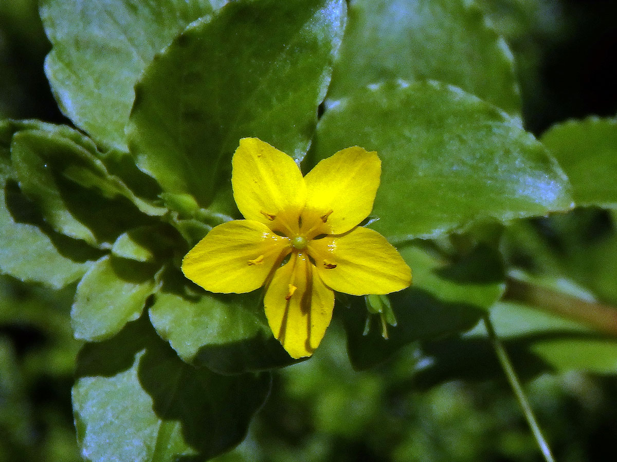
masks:
<path id="1" fill-rule="evenodd" d="M 292 358 L 310 356 L 332 318 L 334 293 L 303 254 L 276 270 L 263 300 L 270 328 Z"/>

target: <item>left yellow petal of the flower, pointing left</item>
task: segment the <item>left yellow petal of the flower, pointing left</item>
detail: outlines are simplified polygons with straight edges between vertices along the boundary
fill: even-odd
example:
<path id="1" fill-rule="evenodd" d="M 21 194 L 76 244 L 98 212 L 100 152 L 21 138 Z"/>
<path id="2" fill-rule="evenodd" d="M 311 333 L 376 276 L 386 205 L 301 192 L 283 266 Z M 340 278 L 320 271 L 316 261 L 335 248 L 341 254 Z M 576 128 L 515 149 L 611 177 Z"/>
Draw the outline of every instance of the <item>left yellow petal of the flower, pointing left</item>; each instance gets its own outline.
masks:
<path id="1" fill-rule="evenodd" d="M 289 249 L 288 238 L 262 223 L 230 221 L 213 228 L 184 256 L 182 271 L 211 292 L 250 292 L 263 285 Z"/>

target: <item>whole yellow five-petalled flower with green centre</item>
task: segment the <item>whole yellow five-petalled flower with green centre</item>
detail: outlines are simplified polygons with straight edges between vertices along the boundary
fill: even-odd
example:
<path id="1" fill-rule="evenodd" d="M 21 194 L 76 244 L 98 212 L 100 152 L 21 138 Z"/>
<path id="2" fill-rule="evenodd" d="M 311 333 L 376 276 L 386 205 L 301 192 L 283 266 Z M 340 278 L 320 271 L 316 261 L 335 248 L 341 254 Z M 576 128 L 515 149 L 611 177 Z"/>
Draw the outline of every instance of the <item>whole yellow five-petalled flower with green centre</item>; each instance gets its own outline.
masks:
<path id="1" fill-rule="evenodd" d="M 182 270 L 212 292 L 267 286 L 268 323 L 291 357 L 317 348 L 335 290 L 387 294 L 410 285 L 411 270 L 396 249 L 358 227 L 379 186 L 377 153 L 347 148 L 302 177 L 291 157 L 244 138 L 231 164 L 234 198 L 246 219 L 212 229 L 186 254 Z"/>

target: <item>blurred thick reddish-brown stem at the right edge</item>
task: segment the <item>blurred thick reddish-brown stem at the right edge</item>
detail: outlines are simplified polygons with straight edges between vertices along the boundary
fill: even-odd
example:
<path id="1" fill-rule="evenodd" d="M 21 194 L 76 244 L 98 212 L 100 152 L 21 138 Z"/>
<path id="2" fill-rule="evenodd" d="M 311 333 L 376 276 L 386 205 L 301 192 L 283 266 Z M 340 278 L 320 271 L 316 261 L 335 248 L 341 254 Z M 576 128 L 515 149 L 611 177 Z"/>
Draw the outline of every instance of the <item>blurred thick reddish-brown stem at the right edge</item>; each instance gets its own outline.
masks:
<path id="1" fill-rule="evenodd" d="M 617 309 L 609 305 L 589 302 L 511 277 L 507 280 L 504 299 L 524 302 L 617 336 Z"/>

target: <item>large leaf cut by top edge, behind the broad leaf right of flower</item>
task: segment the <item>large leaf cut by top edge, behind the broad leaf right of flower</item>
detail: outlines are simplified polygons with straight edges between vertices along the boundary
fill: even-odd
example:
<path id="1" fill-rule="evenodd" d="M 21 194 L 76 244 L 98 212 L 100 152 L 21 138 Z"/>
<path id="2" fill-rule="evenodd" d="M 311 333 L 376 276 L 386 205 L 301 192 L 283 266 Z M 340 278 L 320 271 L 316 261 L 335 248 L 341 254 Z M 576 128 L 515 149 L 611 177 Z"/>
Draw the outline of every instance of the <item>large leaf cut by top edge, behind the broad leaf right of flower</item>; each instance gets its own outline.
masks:
<path id="1" fill-rule="evenodd" d="M 463 0 L 352 0 L 329 100 L 387 80 L 439 80 L 520 112 L 513 59 L 478 7 Z"/>

